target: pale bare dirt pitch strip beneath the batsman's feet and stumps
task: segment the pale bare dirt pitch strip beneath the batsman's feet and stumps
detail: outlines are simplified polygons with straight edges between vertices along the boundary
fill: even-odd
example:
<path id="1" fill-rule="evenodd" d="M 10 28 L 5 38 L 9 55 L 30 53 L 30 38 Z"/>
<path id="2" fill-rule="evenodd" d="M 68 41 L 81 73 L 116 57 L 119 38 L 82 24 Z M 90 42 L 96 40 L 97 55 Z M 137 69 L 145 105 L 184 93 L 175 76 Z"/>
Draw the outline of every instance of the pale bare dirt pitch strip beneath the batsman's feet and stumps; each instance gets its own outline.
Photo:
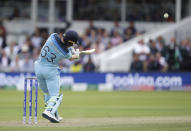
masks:
<path id="1" fill-rule="evenodd" d="M 23 124 L 21 121 L 0 121 L 0 127 L 88 127 L 109 125 L 136 125 L 136 124 L 176 124 L 191 123 L 191 117 L 112 117 L 112 118 L 67 118 L 61 123 L 49 123 L 40 120 L 38 124 Z"/>

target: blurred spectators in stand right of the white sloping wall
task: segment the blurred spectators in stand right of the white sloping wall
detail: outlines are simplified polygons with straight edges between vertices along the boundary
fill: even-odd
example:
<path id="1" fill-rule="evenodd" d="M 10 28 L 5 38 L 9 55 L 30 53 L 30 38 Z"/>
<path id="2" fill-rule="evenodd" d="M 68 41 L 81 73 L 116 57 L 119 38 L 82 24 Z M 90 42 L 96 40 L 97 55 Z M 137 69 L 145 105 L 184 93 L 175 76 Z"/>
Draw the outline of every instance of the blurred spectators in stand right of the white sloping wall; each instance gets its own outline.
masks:
<path id="1" fill-rule="evenodd" d="M 179 72 L 191 71 L 191 39 L 177 42 L 172 37 L 166 43 L 162 37 L 138 41 L 133 51 L 132 72 Z"/>

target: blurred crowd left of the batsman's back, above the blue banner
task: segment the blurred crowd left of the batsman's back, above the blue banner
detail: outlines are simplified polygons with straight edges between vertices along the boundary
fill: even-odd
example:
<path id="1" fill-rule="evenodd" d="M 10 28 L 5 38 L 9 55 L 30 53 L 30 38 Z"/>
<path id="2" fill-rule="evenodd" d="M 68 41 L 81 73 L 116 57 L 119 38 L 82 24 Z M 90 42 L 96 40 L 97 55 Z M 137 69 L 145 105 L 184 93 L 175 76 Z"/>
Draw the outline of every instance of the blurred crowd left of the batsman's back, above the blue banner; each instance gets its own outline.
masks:
<path id="1" fill-rule="evenodd" d="M 7 42 L 6 29 L 0 25 L 0 71 L 33 72 L 33 62 L 47 37 L 47 33 L 40 35 L 37 29 L 32 36 L 26 36 L 22 43 L 17 43 L 15 39 Z"/>

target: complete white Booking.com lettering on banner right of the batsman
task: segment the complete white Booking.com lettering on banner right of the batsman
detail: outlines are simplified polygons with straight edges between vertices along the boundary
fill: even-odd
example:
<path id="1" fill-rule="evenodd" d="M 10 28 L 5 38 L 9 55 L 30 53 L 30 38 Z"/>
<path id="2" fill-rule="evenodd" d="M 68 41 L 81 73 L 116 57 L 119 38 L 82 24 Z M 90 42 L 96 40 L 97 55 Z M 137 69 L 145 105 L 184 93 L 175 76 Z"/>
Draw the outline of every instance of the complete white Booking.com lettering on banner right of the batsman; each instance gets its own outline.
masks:
<path id="1" fill-rule="evenodd" d="M 128 86 L 155 86 L 155 87 L 181 87 L 182 78 L 179 76 L 140 76 L 138 73 L 125 76 L 106 74 L 106 83 L 116 87 Z"/>

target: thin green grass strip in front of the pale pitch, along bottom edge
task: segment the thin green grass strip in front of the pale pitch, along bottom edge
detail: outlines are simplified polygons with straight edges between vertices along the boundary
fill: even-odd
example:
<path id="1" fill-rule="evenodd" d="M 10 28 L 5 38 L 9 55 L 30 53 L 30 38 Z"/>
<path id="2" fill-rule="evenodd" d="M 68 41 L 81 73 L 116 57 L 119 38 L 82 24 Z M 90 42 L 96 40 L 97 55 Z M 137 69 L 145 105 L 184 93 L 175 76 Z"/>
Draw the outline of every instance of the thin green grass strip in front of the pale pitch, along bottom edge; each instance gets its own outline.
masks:
<path id="1" fill-rule="evenodd" d="M 10 131 L 190 131 L 190 124 L 163 124 L 163 125 L 119 125 L 119 126 L 100 126 L 100 127 L 1 127 L 0 130 Z"/>

